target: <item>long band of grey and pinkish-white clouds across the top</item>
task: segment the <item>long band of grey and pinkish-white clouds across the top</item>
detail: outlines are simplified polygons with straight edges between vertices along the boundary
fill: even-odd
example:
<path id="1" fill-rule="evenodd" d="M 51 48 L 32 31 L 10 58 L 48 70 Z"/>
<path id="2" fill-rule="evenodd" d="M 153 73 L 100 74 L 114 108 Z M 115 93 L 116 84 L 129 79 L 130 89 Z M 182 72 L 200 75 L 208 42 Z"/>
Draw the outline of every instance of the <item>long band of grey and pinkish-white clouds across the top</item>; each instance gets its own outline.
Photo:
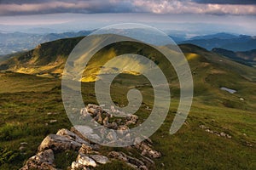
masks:
<path id="1" fill-rule="evenodd" d="M 69 0 L 0 4 L 1 15 L 148 12 L 154 14 L 256 14 L 256 5 L 195 3 L 192 0 Z"/>

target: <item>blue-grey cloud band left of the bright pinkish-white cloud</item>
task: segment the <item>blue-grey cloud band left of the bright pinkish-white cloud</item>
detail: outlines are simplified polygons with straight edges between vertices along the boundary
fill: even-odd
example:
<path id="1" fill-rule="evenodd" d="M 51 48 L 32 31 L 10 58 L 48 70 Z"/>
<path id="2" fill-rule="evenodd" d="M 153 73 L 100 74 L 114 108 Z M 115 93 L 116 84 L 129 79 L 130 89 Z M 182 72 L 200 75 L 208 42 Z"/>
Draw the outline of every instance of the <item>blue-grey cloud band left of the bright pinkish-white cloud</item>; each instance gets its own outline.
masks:
<path id="1" fill-rule="evenodd" d="M 0 0 L 0 14 L 54 14 L 54 13 L 127 13 L 132 12 L 131 3 L 101 0 Z"/>

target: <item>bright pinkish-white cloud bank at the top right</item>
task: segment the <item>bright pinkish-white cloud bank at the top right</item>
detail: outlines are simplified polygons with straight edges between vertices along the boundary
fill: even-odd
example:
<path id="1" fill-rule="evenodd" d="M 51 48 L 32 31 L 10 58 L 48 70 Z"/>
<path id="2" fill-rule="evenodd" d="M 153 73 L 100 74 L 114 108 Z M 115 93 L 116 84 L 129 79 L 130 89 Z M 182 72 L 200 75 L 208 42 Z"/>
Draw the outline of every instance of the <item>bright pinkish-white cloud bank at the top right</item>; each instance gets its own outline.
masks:
<path id="1" fill-rule="evenodd" d="M 192 1 L 134 0 L 137 8 L 156 14 L 256 14 L 256 5 L 207 4 Z"/>

